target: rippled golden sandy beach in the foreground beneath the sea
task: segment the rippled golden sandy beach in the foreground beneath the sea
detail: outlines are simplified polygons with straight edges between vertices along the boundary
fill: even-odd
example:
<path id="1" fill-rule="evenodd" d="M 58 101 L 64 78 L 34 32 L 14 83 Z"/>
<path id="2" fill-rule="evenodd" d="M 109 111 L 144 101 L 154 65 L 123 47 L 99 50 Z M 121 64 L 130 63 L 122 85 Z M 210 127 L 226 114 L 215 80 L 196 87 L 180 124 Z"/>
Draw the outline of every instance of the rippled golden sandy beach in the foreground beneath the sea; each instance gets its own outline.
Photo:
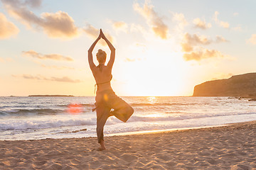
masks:
<path id="1" fill-rule="evenodd" d="M 0 141 L 0 169 L 256 169 L 256 121 L 97 138 Z"/>

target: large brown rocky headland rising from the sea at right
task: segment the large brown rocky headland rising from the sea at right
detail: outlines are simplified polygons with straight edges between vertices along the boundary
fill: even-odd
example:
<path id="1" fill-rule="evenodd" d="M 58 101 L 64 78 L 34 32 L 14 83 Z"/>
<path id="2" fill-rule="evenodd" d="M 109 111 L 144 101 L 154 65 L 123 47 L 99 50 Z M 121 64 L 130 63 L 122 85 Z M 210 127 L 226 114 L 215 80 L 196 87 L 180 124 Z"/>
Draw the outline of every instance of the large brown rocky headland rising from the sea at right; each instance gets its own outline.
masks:
<path id="1" fill-rule="evenodd" d="M 256 98 L 256 73 L 235 75 L 229 79 L 206 81 L 194 87 L 193 96 Z"/>

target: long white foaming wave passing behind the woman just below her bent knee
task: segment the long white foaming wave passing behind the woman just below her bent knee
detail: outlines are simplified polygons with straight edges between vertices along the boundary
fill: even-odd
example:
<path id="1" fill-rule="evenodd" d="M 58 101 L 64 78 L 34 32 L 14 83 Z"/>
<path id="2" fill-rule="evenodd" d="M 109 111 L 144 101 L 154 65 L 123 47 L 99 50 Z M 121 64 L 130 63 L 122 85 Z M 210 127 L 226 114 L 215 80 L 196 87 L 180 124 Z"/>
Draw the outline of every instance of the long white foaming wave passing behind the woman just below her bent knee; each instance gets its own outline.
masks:
<path id="1" fill-rule="evenodd" d="M 139 115 L 134 114 L 127 121 L 127 123 L 164 123 L 174 120 L 191 120 L 200 118 L 218 118 L 220 116 L 230 116 L 230 115 L 255 115 L 252 113 L 189 113 L 189 114 L 166 114 L 166 115 Z M 59 128 L 59 127 L 69 127 L 69 126 L 80 126 L 80 125 L 96 125 L 97 118 L 94 115 L 78 115 L 78 116 L 68 116 L 63 117 L 62 115 L 55 115 L 56 117 L 50 116 L 49 118 L 39 119 L 39 118 L 26 118 L 26 119 L 12 119 L 12 120 L 0 120 L 0 130 L 37 130 L 45 128 Z M 90 117 L 88 117 L 90 116 Z M 93 117 L 92 117 L 93 116 Z M 108 118 L 106 125 L 117 125 L 122 123 L 114 116 Z M 156 123 L 156 124 L 157 124 Z"/>

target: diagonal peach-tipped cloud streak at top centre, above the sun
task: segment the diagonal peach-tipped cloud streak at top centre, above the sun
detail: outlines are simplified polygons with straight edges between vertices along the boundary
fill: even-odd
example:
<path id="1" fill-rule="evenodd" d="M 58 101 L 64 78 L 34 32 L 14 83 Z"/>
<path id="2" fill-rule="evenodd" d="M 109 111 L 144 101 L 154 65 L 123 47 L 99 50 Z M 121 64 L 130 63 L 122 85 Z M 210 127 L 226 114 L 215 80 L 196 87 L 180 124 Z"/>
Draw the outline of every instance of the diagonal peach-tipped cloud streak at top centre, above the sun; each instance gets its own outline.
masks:
<path id="1" fill-rule="evenodd" d="M 156 11 L 154 11 L 153 7 L 149 4 L 149 1 L 145 1 L 143 7 L 139 6 L 138 3 L 133 4 L 134 11 L 137 11 L 146 19 L 154 34 L 162 39 L 167 39 L 168 27 Z"/>

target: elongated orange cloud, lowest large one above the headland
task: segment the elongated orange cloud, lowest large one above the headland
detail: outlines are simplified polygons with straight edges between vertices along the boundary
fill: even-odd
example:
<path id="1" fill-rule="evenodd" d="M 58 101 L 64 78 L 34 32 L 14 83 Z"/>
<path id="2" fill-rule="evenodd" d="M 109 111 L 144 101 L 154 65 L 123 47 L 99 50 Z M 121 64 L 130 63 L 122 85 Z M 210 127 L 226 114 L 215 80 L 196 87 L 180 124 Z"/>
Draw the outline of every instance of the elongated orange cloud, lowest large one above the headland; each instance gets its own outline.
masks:
<path id="1" fill-rule="evenodd" d="M 218 50 L 208 50 L 206 48 L 201 48 L 201 50 L 193 51 L 191 53 L 185 53 L 183 55 L 183 59 L 186 61 L 190 61 L 190 60 L 200 61 L 203 59 L 208 59 L 208 58 L 213 58 L 213 57 L 214 58 L 223 58 L 223 57 L 227 57 L 227 56 L 223 55 Z"/>

